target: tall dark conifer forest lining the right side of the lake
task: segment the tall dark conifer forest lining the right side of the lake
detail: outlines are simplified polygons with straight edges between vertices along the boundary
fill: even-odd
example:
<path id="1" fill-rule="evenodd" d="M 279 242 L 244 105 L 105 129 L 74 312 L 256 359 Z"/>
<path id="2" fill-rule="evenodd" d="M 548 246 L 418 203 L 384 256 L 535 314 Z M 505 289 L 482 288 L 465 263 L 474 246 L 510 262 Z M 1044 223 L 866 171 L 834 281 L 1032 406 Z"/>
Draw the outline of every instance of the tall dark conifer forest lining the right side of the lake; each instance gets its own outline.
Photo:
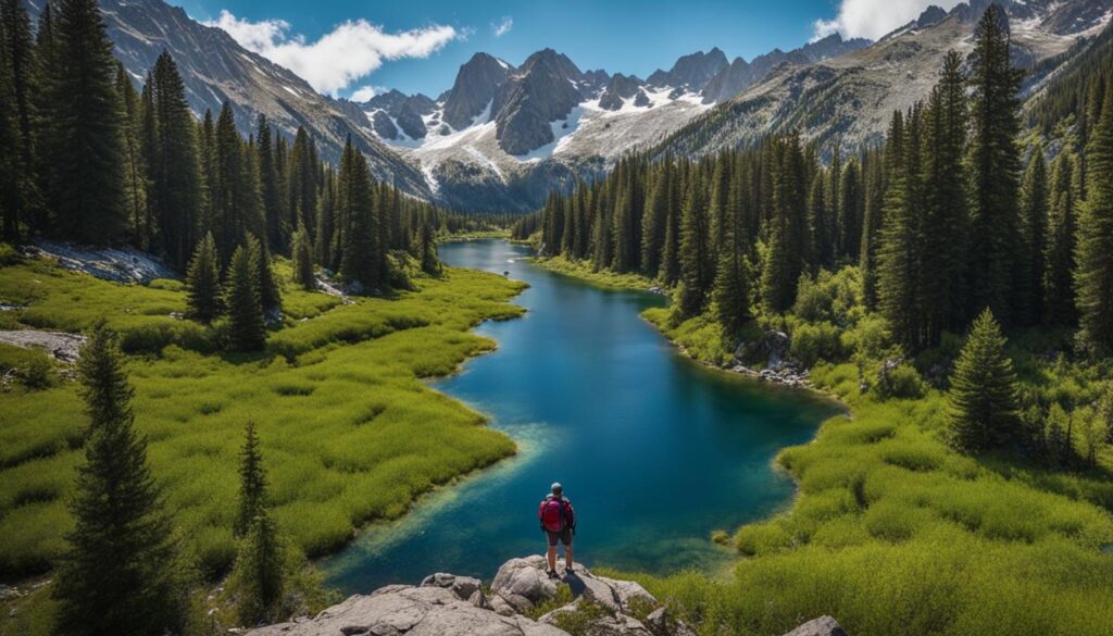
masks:
<path id="1" fill-rule="evenodd" d="M 1004 326 L 1076 327 L 1113 352 L 1113 65 L 1083 86 L 1086 125 L 1051 165 L 1018 143 L 1022 71 L 991 6 L 965 60 L 854 157 L 796 133 L 699 159 L 621 159 L 553 194 L 513 234 L 544 256 L 674 287 L 676 319 L 715 312 L 728 332 L 790 310 L 801 280 L 858 265 L 868 309 L 908 354 L 988 307 Z M 1106 38 L 1107 39 L 1107 38 Z M 1025 158 L 1026 154 L 1026 158 Z"/>

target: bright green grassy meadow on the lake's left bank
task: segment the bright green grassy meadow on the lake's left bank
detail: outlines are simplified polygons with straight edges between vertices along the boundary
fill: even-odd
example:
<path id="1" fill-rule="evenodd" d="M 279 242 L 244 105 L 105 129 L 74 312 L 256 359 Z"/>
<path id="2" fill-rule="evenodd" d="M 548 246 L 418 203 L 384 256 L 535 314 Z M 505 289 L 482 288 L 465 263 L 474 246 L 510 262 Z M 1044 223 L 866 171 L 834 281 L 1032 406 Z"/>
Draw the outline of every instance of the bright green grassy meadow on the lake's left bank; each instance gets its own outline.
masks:
<path id="1" fill-rule="evenodd" d="M 237 453 L 248 420 L 262 438 L 275 516 L 309 556 L 514 452 L 481 414 L 421 379 L 492 349 L 469 330 L 520 315 L 506 302 L 520 283 L 447 268 L 395 300 L 345 305 L 296 290 L 288 265 L 277 268 L 287 282 L 285 326 L 250 355 L 215 353 L 214 330 L 169 315 L 185 309 L 178 282 L 119 285 L 41 260 L 0 268 L 0 303 L 27 305 L 0 313 L 0 327 L 80 331 L 102 316 L 121 332 L 137 427 L 208 575 L 235 554 Z M 0 366 L 36 356 L 0 348 Z M 0 578 L 45 573 L 62 548 L 85 421 L 71 381 L 0 391 Z"/>

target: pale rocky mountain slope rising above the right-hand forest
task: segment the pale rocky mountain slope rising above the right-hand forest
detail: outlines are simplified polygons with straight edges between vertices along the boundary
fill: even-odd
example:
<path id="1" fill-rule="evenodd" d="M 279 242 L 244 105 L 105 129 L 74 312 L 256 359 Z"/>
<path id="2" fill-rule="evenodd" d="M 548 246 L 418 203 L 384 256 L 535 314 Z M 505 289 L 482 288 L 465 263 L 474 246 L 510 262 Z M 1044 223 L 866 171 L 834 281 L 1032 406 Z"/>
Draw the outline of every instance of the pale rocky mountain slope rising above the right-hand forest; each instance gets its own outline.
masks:
<path id="1" fill-rule="evenodd" d="M 1078 42 L 1109 25 L 1111 0 L 1005 0 L 1013 61 L 1040 66 L 1025 82 L 1038 90 L 1058 65 L 1082 50 Z M 747 146 L 798 129 L 827 154 L 856 151 L 884 136 L 889 116 L 924 99 L 948 50 L 968 53 L 972 33 L 989 0 L 971 0 L 951 11 L 929 7 L 918 19 L 876 43 L 818 62 L 781 66 L 736 97 L 674 130 L 656 154 L 700 156 Z"/>

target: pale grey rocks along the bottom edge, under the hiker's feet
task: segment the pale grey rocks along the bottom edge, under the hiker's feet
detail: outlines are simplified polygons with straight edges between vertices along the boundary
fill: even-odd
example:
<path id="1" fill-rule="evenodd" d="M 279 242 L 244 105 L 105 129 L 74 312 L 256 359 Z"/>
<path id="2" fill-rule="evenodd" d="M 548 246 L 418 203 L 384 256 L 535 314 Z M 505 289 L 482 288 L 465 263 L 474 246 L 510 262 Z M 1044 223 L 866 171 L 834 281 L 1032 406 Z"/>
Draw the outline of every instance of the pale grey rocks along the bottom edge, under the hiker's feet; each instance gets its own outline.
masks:
<path id="1" fill-rule="evenodd" d="M 642 586 L 577 564 L 550 579 L 544 557 L 511 559 L 485 590 L 472 577 L 437 573 L 417 586 L 354 595 L 313 618 L 269 625 L 249 636 L 695 636 Z M 573 627 L 574 626 L 574 627 Z M 565 629 L 568 628 L 568 629 Z M 789 636 L 789 635 L 786 635 Z M 824 616 L 790 636 L 846 636 Z"/>

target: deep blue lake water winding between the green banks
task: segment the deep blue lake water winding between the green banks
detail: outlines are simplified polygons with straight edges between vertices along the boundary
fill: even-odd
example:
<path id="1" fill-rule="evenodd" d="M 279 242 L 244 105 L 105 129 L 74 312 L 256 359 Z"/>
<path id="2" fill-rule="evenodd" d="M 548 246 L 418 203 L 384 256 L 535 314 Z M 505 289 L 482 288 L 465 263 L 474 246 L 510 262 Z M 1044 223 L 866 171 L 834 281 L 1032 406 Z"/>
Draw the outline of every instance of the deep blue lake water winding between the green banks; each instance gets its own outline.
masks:
<path id="1" fill-rule="evenodd" d="M 498 351 L 433 382 L 489 414 L 519 454 L 363 532 L 324 562 L 329 585 L 367 591 L 433 571 L 490 580 L 506 559 L 544 549 L 536 509 L 553 481 L 575 506 L 577 560 L 660 574 L 725 562 L 712 530 L 791 499 L 772 458 L 810 439 L 835 404 L 707 370 L 639 317 L 660 296 L 552 274 L 529 253 L 503 241 L 441 247 L 451 265 L 528 282 L 514 302 L 529 313 L 480 326 Z"/>

